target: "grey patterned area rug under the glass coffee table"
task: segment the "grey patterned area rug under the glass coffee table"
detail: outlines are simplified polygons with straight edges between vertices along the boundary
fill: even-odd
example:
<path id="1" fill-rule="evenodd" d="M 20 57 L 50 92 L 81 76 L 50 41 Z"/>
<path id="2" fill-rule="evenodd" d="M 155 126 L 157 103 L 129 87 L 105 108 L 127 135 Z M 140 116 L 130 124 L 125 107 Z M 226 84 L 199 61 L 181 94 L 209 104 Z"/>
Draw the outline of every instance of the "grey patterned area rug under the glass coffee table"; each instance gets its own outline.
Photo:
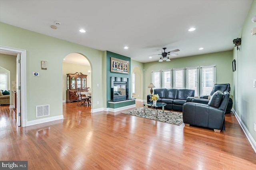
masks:
<path id="1" fill-rule="evenodd" d="M 138 117 L 144 117 L 147 119 L 152 119 L 156 121 L 162 121 L 165 123 L 170 123 L 173 125 L 181 125 L 183 123 L 182 119 L 182 113 L 181 112 L 176 112 L 176 111 L 164 111 L 162 109 L 157 109 L 158 111 L 158 116 L 157 118 L 155 117 L 156 109 L 150 109 L 146 108 L 145 113 L 143 112 L 143 107 L 124 111 L 121 113 L 128 114 L 128 115 L 133 115 L 133 116 L 138 116 Z"/>

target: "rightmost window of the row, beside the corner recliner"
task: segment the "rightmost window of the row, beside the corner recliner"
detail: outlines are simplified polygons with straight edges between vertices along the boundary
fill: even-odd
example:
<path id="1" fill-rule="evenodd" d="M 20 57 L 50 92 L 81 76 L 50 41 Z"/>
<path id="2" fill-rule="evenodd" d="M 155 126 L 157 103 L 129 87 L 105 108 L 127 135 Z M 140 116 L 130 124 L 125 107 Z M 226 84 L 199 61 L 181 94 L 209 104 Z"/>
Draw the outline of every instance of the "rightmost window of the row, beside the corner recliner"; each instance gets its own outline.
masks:
<path id="1" fill-rule="evenodd" d="M 216 82 L 216 66 L 201 66 L 201 94 L 209 95 Z"/>

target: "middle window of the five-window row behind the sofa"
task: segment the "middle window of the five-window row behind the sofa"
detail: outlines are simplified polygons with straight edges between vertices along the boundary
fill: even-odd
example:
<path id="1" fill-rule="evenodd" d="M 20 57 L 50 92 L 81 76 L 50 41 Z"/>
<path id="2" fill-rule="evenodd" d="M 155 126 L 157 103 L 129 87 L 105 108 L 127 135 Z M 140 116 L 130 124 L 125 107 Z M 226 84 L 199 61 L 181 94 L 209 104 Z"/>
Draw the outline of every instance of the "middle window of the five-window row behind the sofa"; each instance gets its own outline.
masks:
<path id="1" fill-rule="evenodd" d="M 184 68 L 174 68 L 173 69 L 173 88 L 184 89 Z"/>

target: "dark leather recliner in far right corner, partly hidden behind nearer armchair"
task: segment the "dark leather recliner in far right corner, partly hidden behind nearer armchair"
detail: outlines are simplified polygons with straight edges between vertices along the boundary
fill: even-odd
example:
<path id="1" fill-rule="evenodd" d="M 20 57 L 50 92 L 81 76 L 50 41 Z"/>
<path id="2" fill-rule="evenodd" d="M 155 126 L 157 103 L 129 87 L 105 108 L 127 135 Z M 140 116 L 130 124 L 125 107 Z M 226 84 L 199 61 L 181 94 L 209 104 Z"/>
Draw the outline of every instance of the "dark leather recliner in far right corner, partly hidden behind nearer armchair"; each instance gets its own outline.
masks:
<path id="1" fill-rule="evenodd" d="M 229 92 L 230 93 L 230 84 L 214 84 L 212 92 L 210 93 L 210 96 L 212 96 L 216 91 L 223 91 L 223 92 Z M 209 99 L 208 99 L 208 95 L 204 95 L 204 96 L 200 96 L 200 98 L 195 98 L 192 99 L 192 102 L 194 103 L 201 103 L 201 104 L 208 104 Z M 233 106 L 233 100 L 232 98 L 228 99 L 228 106 L 226 108 L 226 112 L 225 113 L 230 113 L 231 109 Z"/>

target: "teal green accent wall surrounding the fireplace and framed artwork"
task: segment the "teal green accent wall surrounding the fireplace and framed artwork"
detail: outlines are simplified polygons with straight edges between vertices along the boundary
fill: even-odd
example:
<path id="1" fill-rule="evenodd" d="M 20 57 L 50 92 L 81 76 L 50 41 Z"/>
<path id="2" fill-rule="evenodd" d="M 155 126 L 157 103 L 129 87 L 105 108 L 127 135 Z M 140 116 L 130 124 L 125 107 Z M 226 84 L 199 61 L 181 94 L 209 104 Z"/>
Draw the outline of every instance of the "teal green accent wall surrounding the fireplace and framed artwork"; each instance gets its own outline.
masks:
<path id="1" fill-rule="evenodd" d="M 121 59 L 129 62 L 129 74 L 126 73 L 119 73 L 119 72 L 111 72 L 110 66 L 111 66 L 111 57 L 114 57 L 116 59 Z M 110 51 L 106 51 L 106 106 L 108 107 L 108 101 L 111 100 L 110 96 L 110 77 L 123 77 L 128 78 L 128 88 L 129 88 L 129 98 L 131 98 L 131 59 L 130 57 L 126 57 L 123 55 L 119 55 L 116 53 L 112 53 Z"/>

